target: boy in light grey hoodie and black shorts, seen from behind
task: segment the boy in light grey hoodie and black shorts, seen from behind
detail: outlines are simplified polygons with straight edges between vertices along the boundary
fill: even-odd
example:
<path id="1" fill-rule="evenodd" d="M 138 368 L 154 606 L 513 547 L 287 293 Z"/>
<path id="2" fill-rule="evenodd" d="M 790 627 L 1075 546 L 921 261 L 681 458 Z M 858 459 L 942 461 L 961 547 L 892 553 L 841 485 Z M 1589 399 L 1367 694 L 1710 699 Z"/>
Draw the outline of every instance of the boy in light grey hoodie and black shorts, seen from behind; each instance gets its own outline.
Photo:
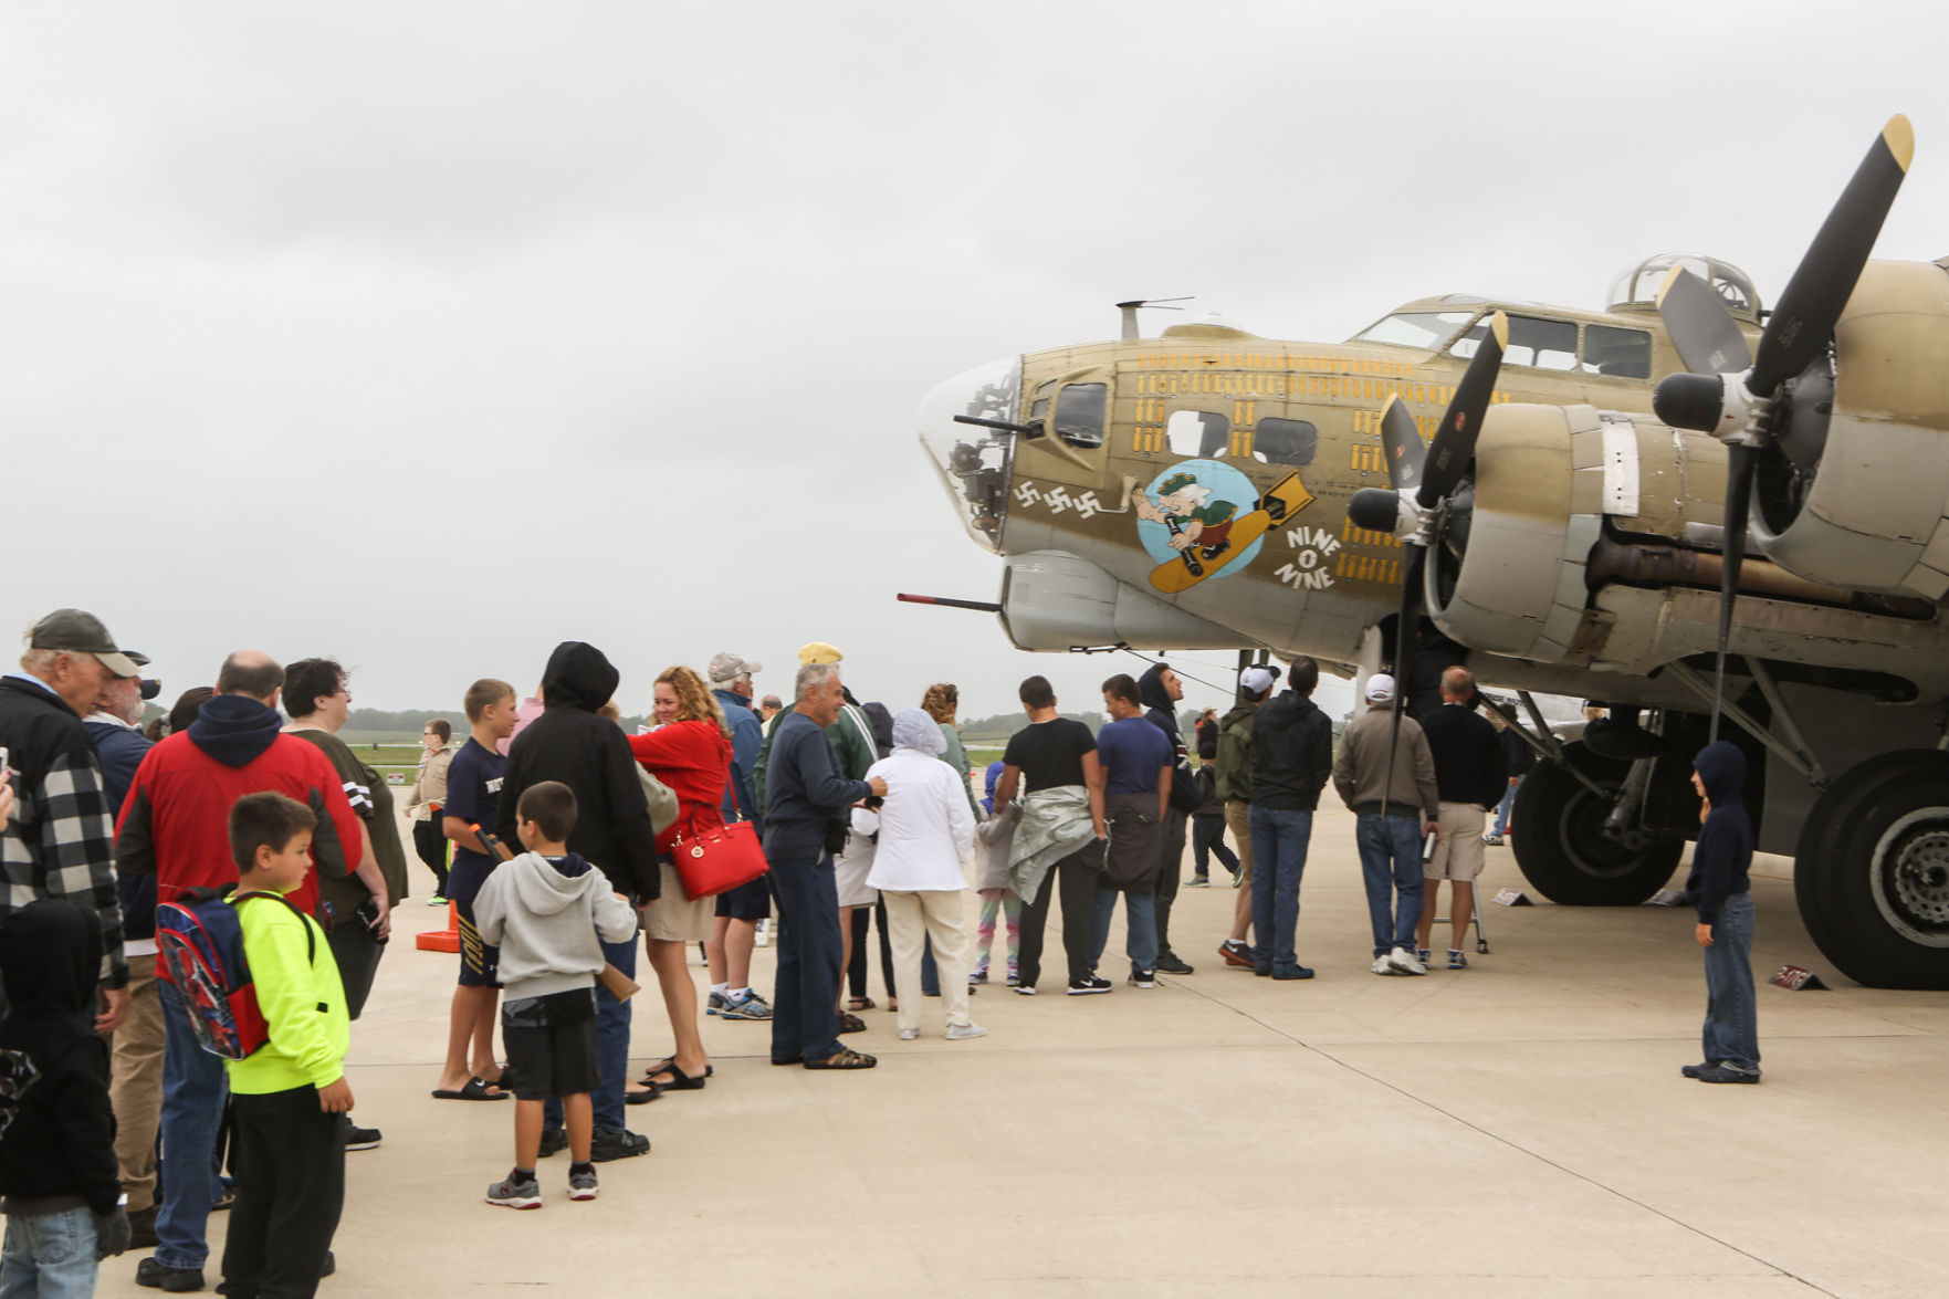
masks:
<path id="1" fill-rule="evenodd" d="M 487 1188 L 487 1203 L 540 1209 L 534 1162 L 542 1106 L 561 1098 L 569 1129 L 569 1200 L 596 1198 L 589 1161 L 596 1086 L 596 975 L 602 944 L 635 934 L 635 909 L 608 876 L 569 852 L 575 792 L 542 780 L 520 792 L 520 856 L 503 862 L 474 899 L 481 938 L 501 946 L 501 1040 L 515 1075 L 515 1168 Z"/>

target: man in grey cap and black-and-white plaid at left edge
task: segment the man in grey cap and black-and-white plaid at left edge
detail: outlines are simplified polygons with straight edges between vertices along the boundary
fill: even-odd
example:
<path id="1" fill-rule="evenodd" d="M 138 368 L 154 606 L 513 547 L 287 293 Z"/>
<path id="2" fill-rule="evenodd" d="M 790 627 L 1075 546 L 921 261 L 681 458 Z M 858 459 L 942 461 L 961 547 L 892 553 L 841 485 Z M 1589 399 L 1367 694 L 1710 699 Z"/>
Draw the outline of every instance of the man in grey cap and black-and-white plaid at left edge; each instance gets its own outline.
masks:
<path id="1" fill-rule="evenodd" d="M 101 1032 L 121 1024 L 129 1008 L 129 965 L 115 897 L 115 823 L 82 718 L 94 712 L 103 683 L 138 677 L 142 663 L 144 655 L 117 650 L 94 614 L 57 609 L 27 632 L 19 671 L 0 677 L 0 747 L 18 800 L 0 829 L 0 915 L 66 897 L 101 917 Z"/>

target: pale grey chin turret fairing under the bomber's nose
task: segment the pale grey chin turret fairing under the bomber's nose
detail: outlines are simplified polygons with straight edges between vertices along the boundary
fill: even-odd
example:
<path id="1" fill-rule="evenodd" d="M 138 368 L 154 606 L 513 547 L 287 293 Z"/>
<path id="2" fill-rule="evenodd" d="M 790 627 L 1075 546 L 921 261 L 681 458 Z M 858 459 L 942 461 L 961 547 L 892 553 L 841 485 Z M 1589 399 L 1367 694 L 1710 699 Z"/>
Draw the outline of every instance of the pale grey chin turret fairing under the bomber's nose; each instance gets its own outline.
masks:
<path id="1" fill-rule="evenodd" d="M 1066 550 L 1008 556 L 1002 630 L 1017 650 L 1035 653 L 1109 646 L 1245 650 L 1257 644 L 1117 581 Z"/>

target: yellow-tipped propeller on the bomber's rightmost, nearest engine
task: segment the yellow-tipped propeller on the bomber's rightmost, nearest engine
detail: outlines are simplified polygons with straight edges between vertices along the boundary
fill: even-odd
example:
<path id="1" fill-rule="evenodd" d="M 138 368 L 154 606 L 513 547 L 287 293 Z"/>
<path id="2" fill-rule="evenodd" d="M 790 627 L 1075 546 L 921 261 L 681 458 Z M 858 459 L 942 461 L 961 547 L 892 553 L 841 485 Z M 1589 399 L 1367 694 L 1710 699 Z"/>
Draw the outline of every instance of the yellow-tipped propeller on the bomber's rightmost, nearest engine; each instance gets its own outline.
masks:
<path id="1" fill-rule="evenodd" d="M 1672 267 L 1659 291 L 1659 316 L 1690 374 L 1659 382 L 1651 408 L 1664 423 L 1711 433 L 1727 445 L 1725 554 L 1719 571 L 1719 644 L 1713 663 L 1711 739 L 1719 737 L 1725 700 L 1725 653 L 1733 630 L 1733 597 L 1746 558 L 1752 482 L 1762 449 L 1779 441 L 1791 402 L 1776 404 L 1781 384 L 1822 363 L 1881 222 L 1894 203 L 1914 133 L 1896 113 L 1869 146 L 1820 232 L 1793 271 L 1748 359 L 1744 335 L 1717 295 L 1684 267 Z"/>

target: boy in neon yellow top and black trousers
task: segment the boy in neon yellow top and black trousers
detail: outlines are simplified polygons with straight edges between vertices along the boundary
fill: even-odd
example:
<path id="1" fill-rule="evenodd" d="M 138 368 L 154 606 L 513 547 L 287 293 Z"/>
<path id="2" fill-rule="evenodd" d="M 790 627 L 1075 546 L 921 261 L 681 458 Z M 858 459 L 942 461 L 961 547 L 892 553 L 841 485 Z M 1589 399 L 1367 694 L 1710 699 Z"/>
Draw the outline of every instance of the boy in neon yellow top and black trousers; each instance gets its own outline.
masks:
<path id="1" fill-rule="evenodd" d="M 224 1244 L 234 1295 L 316 1293 L 345 1203 L 345 987 L 318 921 L 285 897 L 310 870 L 314 827 L 310 807 L 283 794 L 230 807 L 230 905 L 267 1030 L 263 1045 L 224 1063 L 236 1106 L 238 1200 Z"/>

